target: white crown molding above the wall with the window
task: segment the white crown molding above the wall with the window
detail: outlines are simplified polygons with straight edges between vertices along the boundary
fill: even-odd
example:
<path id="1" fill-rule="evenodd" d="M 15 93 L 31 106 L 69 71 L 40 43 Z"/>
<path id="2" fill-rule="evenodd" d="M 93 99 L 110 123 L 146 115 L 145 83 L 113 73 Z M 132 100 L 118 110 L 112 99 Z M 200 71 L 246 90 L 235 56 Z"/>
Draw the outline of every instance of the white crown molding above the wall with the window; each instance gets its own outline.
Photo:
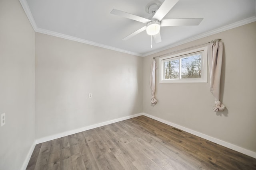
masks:
<path id="1" fill-rule="evenodd" d="M 238 22 L 235 22 L 235 23 L 232 23 L 232 24 L 229 24 L 229 25 L 226 25 L 226 26 L 223 26 L 223 27 L 220 27 L 220 28 L 217 28 L 217 29 L 214 29 L 212 31 L 208 31 L 206 33 L 202 33 L 200 35 L 196 35 L 194 37 L 191 37 L 191 38 L 188 38 L 188 39 L 184 39 L 182 41 L 178 41 L 176 43 L 173 43 L 172 45 L 168 45 L 164 48 L 161 48 L 161 49 L 158 49 L 158 50 L 155 50 L 155 51 L 151 51 L 149 53 L 145 53 L 142 55 L 142 57 L 146 57 L 148 55 L 152 55 L 152 54 L 155 54 L 155 53 L 158 53 L 160 51 L 164 51 L 164 50 L 167 50 L 167 49 L 170 49 L 170 48 L 173 48 L 173 47 L 176 47 L 178 45 L 182 45 L 182 44 L 185 44 L 185 43 L 189 43 L 191 41 L 195 41 L 197 39 L 201 39 L 201 38 L 204 38 L 204 37 L 207 37 L 207 36 L 210 36 L 210 35 L 214 35 L 216 33 L 220 33 L 222 31 L 226 31 L 226 30 L 229 30 L 229 29 L 233 29 L 233 28 L 236 28 L 236 27 L 239 27 L 239 26 L 242 26 L 242 25 L 246 25 L 248 23 L 252 23 L 252 22 L 255 22 L 256 21 L 256 16 L 253 16 L 253 17 L 250 17 L 250 18 L 246 18 L 244 20 L 241 20 L 241 21 L 238 21 Z"/>

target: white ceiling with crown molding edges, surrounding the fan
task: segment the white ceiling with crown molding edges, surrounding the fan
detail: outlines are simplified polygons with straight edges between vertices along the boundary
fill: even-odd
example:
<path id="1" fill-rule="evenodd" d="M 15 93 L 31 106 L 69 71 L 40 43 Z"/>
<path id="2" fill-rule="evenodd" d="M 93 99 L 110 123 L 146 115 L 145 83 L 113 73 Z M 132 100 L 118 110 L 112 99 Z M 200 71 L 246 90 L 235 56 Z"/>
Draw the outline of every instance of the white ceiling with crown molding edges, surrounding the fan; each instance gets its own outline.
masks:
<path id="1" fill-rule="evenodd" d="M 164 0 L 160 0 L 163 2 Z M 161 27 L 162 42 L 150 48 L 145 24 L 110 14 L 122 10 L 149 18 L 152 0 L 20 0 L 35 31 L 125 53 L 146 56 L 217 31 L 256 21 L 256 0 L 179 0 L 164 19 L 204 18 L 198 26 Z M 221 38 L 221 37 L 219 37 Z"/>

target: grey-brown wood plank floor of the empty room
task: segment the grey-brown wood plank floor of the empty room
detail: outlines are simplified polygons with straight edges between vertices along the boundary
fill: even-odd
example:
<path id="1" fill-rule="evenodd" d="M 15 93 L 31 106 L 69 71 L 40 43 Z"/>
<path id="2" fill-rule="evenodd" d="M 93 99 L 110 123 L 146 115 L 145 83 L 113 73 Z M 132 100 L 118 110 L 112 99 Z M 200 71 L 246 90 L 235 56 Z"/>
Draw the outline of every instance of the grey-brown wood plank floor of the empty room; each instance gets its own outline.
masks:
<path id="1" fill-rule="evenodd" d="M 27 170 L 256 170 L 256 159 L 146 116 L 36 145 Z"/>

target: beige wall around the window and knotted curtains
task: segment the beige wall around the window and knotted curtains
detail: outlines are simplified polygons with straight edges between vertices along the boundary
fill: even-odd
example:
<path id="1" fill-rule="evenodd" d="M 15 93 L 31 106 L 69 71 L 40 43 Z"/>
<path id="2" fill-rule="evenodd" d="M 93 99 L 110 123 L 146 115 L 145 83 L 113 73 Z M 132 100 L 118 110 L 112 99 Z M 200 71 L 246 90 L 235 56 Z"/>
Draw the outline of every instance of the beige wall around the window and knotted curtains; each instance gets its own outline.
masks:
<path id="1" fill-rule="evenodd" d="M 155 106 L 150 105 L 152 57 L 202 44 L 224 42 L 221 101 L 222 113 L 212 111 L 214 97 L 208 83 L 159 83 L 156 70 Z M 159 58 L 156 58 L 159 66 Z M 256 152 L 256 22 L 217 33 L 160 53 L 144 57 L 143 112 Z"/>

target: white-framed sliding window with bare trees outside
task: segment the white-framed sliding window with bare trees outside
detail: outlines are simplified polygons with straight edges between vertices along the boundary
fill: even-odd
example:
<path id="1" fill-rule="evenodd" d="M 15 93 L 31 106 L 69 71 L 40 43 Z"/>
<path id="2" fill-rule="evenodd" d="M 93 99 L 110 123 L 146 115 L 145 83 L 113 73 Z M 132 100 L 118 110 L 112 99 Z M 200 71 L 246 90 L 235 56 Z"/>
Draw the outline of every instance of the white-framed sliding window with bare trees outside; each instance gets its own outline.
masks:
<path id="1" fill-rule="evenodd" d="M 160 83 L 206 83 L 207 47 L 159 59 Z"/>

